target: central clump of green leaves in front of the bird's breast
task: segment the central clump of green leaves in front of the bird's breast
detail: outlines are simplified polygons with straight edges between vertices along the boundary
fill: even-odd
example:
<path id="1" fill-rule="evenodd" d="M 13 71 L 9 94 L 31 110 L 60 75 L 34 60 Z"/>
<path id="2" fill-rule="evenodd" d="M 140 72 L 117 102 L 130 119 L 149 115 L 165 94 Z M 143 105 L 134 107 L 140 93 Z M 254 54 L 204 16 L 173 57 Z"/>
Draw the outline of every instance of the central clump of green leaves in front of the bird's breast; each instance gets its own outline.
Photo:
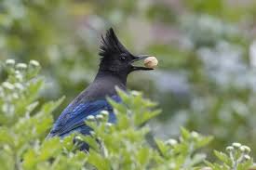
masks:
<path id="1" fill-rule="evenodd" d="M 179 143 L 174 139 L 164 142 L 153 138 L 156 148 L 151 148 L 145 138 L 150 129 L 142 124 L 158 114 L 157 110 L 151 111 L 155 103 L 143 99 L 138 92 L 128 95 L 118 90 L 118 94 L 124 101 L 122 104 L 110 101 L 115 107 L 117 124 L 106 122 L 105 111 L 102 116 L 91 117 L 87 122 L 95 129 L 95 140 L 85 137 L 93 146 L 88 163 L 98 169 L 192 169 L 202 163 L 206 155 L 195 154 L 195 150 L 207 145 L 211 137 L 190 134 L 182 129 Z"/>

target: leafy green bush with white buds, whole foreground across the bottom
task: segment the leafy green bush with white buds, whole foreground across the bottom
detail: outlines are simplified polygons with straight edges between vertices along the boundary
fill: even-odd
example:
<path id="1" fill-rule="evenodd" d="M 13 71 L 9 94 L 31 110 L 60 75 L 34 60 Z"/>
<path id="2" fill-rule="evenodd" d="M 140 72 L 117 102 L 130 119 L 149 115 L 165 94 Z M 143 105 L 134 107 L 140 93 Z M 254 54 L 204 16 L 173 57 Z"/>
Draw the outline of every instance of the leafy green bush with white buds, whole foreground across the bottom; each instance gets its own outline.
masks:
<path id="1" fill-rule="evenodd" d="M 115 108 L 117 124 L 107 123 L 108 112 L 89 116 L 91 136 L 74 134 L 60 139 L 46 139 L 53 123 L 52 111 L 63 98 L 39 102 L 44 79 L 37 75 L 40 65 L 15 63 L 7 59 L 1 64 L 6 81 L 0 86 L 0 164 L 2 169 L 200 169 L 208 164 L 212 169 L 247 169 L 252 164 L 249 148 L 233 144 L 230 156 L 215 151 L 222 161 L 205 162 L 206 154 L 199 150 L 212 137 L 203 137 L 182 128 L 182 135 L 163 141 L 151 134 L 146 124 L 160 111 L 155 102 L 142 98 L 140 92 L 129 94 L 117 89 L 123 103 L 109 99 Z M 75 139 L 75 140 L 74 140 Z M 90 150 L 80 151 L 79 141 L 87 142 Z"/>

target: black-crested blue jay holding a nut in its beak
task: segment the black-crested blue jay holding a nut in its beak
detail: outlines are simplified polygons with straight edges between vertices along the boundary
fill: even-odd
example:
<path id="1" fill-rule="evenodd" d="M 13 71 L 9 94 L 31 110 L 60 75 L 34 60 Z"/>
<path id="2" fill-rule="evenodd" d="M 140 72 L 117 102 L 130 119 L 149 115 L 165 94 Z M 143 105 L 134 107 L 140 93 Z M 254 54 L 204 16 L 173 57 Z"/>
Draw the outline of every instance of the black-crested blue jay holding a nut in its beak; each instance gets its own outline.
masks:
<path id="1" fill-rule="evenodd" d="M 96 116 L 101 111 L 108 111 L 108 122 L 115 124 L 117 120 L 114 110 L 106 98 L 122 102 L 115 87 L 128 91 L 129 73 L 154 70 L 133 65 L 134 62 L 147 59 L 150 55 L 131 54 L 118 40 L 113 28 L 107 30 L 104 36 L 101 35 L 99 56 L 101 57 L 99 70 L 93 82 L 61 112 L 47 138 L 66 137 L 74 132 L 90 135 L 92 129 L 85 121 L 89 115 Z"/>

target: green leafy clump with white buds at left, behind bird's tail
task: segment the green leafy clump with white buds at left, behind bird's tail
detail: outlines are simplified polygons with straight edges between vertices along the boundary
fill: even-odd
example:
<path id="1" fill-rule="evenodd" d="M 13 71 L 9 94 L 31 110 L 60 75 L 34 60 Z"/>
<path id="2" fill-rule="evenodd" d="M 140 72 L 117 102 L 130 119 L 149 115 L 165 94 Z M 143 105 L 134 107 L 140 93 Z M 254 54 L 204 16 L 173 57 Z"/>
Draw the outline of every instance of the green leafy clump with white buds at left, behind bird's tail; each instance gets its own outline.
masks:
<path id="1" fill-rule="evenodd" d="M 53 123 L 52 111 L 63 98 L 39 103 L 44 79 L 37 76 L 40 65 L 16 64 L 13 59 L 2 63 L 7 79 L 0 86 L 0 163 L 3 169 L 79 169 L 84 163 L 82 152 L 73 155 L 72 138 L 45 140 Z M 63 156 L 63 146 L 67 150 Z M 56 158 L 50 163 L 50 158 Z M 67 159 L 69 158 L 69 159 Z M 63 163 L 65 162 L 65 163 Z M 70 167 L 70 168 L 69 168 Z M 76 167 L 76 168 L 75 168 Z"/>

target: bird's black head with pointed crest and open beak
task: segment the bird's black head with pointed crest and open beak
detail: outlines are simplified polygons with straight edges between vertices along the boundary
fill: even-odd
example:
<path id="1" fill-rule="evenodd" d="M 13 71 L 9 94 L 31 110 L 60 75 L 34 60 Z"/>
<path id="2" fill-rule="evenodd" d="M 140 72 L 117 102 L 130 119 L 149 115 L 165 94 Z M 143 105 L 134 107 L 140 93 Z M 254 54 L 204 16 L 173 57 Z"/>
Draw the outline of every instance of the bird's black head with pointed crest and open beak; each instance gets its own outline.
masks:
<path id="1" fill-rule="evenodd" d="M 145 67 L 136 67 L 132 63 L 149 57 L 148 55 L 134 56 L 123 46 L 116 37 L 114 30 L 110 28 L 101 39 L 100 46 L 101 64 L 100 70 L 128 75 L 129 72 L 139 70 L 152 70 Z"/>

